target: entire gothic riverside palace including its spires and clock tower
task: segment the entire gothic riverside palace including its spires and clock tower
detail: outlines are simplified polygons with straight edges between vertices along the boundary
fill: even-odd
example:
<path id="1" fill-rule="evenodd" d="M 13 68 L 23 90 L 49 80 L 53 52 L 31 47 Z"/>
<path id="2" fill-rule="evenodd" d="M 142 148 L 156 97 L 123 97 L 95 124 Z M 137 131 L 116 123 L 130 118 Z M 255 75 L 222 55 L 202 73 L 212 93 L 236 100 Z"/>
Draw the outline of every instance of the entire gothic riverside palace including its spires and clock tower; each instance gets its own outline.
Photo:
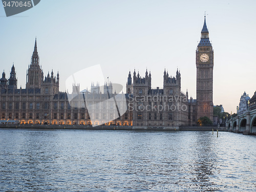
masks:
<path id="1" fill-rule="evenodd" d="M 115 113 L 108 98 L 115 97 L 112 83 L 100 86 L 92 83 L 91 90 L 83 93 L 84 105 L 71 104 L 66 92 L 59 91 L 59 73 L 53 71 L 44 76 L 39 65 L 35 39 L 31 63 L 27 70 L 26 88 L 17 88 L 14 65 L 9 79 L 5 72 L 0 79 L 0 123 L 18 124 L 70 124 L 70 125 L 120 125 L 139 127 L 176 127 L 196 125 L 200 117 L 213 118 L 213 68 L 214 51 L 209 41 L 209 32 L 204 18 L 201 40 L 196 50 L 197 98 L 188 98 L 181 91 L 181 73 L 170 76 L 163 70 L 163 88 L 152 89 L 151 72 L 144 77 L 134 70 L 129 72 L 126 93 L 118 94 L 126 99 L 125 113 Z M 82 82 L 80 82 L 82 83 Z M 79 93 L 79 84 L 73 85 L 72 93 Z M 78 101 L 79 102 L 79 101 Z M 81 101 L 82 102 L 82 101 Z M 117 101 L 118 102 L 118 101 Z M 95 115 L 89 108 L 95 108 Z M 111 119 L 106 122 L 106 119 Z"/>

